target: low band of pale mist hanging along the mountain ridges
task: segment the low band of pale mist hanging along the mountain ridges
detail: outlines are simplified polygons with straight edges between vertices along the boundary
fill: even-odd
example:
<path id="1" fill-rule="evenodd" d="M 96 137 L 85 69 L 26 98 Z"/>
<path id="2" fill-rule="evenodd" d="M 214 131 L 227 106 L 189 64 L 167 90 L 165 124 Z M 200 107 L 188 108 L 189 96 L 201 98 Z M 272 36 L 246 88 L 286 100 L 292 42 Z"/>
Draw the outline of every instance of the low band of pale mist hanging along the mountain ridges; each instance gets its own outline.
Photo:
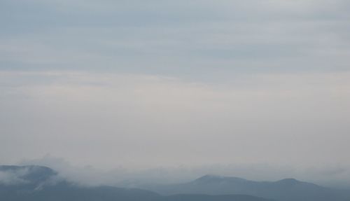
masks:
<path id="1" fill-rule="evenodd" d="M 72 165 L 63 158 L 45 155 L 43 158 L 23 160 L 19 165 L 43 165 L 57 170 L 57 179 L 65 179 L 82 186 L 119 186 L 140 188 L 154 185 L 186 183 L 204 175 L 235 176 L 252 181 L 279 181 L 295 178 L 333 188 L 349 188 L 349 167 L 292 167 L 262 163 L 216 164 L 202 166 L 157 167 L 128 169 L 120 166 L 101 169 L 91 165 Z M 56 179 L 56 180 L 57 180 Z"/>

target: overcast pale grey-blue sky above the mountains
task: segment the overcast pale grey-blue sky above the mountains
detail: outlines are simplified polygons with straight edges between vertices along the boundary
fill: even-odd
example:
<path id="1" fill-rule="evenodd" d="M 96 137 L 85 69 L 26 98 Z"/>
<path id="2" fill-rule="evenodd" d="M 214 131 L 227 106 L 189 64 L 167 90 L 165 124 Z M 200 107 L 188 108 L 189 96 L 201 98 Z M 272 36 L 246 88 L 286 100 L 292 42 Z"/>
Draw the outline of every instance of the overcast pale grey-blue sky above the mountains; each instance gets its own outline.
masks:
<path id="1" fill-rule="evenodd" d="M 350 183 L 349 9 L 1 0 L 0 164 Z"/>

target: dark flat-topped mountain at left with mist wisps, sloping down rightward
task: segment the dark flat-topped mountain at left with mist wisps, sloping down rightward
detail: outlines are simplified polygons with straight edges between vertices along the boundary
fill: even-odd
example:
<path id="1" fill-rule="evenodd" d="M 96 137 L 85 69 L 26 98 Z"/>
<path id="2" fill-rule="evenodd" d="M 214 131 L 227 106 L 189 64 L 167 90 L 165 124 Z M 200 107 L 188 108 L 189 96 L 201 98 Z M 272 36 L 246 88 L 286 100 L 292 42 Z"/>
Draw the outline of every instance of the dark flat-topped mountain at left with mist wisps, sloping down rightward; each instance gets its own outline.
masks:
<path id="1" fill-rule="evenodd" d="M 4 201 L 271 201 L 251 195 L 160 195 L 113 186 L 78 186 L 57 179 L 41 166 L 0 166 L 0 200 Z"/>

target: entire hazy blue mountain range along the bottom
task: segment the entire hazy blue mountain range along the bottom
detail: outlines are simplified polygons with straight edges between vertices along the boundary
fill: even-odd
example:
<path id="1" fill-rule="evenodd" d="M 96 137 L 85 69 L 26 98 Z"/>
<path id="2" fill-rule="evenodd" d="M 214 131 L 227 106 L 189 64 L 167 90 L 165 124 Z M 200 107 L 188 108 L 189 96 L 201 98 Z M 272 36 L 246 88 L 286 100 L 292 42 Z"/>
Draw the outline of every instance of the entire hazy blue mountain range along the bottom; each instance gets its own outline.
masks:
<path id="1" fill-rule="evenodd" d="M 155 193 L 154 193 L 155 192 Z M 262 198 L 265 197 L 265 198 Z M 148 190 L 114 186 L 79 186 L 41 166 L 0 166 L 0 200 L 4 201 L 349 201 L 349 190 L 324 188 L 295 179 L 248 181 L 202 176 Z"/>

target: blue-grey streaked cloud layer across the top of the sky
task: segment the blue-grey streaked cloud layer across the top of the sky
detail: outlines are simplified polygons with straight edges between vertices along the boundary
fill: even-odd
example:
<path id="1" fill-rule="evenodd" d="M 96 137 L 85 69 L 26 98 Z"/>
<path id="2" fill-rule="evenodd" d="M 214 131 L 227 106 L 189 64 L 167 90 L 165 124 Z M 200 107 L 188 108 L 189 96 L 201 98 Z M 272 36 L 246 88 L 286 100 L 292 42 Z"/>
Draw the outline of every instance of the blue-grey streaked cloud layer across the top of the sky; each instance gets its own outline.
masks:
<path id="1" fill-rule="evenodd" d="M 349 5 L 342 0 L 3 4 L 6 12 L 20 11 L 3 18 L 15 33 L 0 38 L 2 69 L 215 80 L 241 72 L 349 70 Z"/>

